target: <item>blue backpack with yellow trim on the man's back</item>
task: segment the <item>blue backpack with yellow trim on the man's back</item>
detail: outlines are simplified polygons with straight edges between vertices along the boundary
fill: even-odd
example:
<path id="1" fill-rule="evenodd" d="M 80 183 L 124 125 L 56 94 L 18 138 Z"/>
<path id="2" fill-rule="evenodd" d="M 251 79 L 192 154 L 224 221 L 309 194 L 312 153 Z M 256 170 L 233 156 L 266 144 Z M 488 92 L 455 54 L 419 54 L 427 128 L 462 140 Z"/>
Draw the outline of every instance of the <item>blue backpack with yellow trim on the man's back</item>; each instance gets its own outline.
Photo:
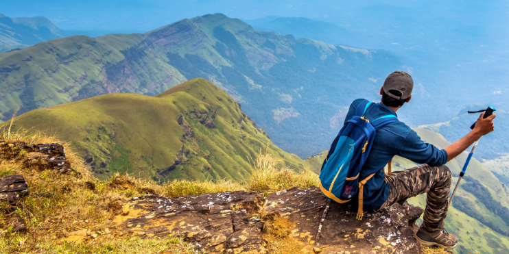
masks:
<path id="1" fill-rule="evenodd" d="M 390 123 L 399 122 L 392 114 L 375 120 L 364 118 L 364 113 L 371 104 L 370 101 L 361 103 L 355 114 L 343 125 L 332 142 L 320 171 L 320 190 L 331 201 L 346 203 L 359 194 L 358 220 L 362 220 L 364 214 L 362 209 L 364 184 L 375 175 L 369 175 L 359 181 L 362 166 L 375 140 L 376 130 Z"/>

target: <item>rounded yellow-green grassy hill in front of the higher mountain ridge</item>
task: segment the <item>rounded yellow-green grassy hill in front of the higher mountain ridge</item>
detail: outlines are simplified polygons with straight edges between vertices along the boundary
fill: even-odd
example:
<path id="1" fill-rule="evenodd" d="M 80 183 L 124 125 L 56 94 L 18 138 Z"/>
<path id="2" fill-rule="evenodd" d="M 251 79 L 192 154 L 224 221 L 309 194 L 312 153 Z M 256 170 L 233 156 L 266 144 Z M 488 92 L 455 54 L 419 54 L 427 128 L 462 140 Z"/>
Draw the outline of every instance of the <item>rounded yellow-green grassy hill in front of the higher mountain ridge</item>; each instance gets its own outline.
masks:
<path id="1" fill-rule="evenodd" d="M 200 123 L 206 123 L 207 114 L 215 124 L 212 129 Z M 192 136 L 186 136 L 187 125 Z M 268 144 L 270 153 L 284 157 L 287 166 L 301 168 L 302 163 L 274 146 L 238 103 L 205 79 L 187 81 L 156 97 L 105 94 L 33 110 L 16 118 L 13 129 L 21 127 L 71 142 L 82 157 L 92 158 L 102 179 L 127 172 L 163 180 L 241 180 L 249 177 L 251 164 Z M 180 164 L 174 170 L 163 173 L 176 161 Z"/>

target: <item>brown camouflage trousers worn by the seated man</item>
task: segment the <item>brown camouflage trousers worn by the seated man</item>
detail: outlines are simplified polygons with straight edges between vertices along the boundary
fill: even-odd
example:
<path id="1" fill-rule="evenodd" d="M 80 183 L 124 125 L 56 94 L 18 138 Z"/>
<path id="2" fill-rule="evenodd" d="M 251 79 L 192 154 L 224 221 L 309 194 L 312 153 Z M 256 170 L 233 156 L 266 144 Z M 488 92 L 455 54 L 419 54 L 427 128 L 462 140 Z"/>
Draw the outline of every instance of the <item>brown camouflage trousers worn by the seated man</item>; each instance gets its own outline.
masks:
<path id="1" fill-rule="evenodd" d="M 386 182 L 389 184 L 389 197 L 380 209 L 427 193 L 423 227 L 429 232 L 436 232 L 444 227 L 451 189 L 451 170 L 447 166 L 424 164 L 396 171 L 392 176 L 386 176 Z"/>

